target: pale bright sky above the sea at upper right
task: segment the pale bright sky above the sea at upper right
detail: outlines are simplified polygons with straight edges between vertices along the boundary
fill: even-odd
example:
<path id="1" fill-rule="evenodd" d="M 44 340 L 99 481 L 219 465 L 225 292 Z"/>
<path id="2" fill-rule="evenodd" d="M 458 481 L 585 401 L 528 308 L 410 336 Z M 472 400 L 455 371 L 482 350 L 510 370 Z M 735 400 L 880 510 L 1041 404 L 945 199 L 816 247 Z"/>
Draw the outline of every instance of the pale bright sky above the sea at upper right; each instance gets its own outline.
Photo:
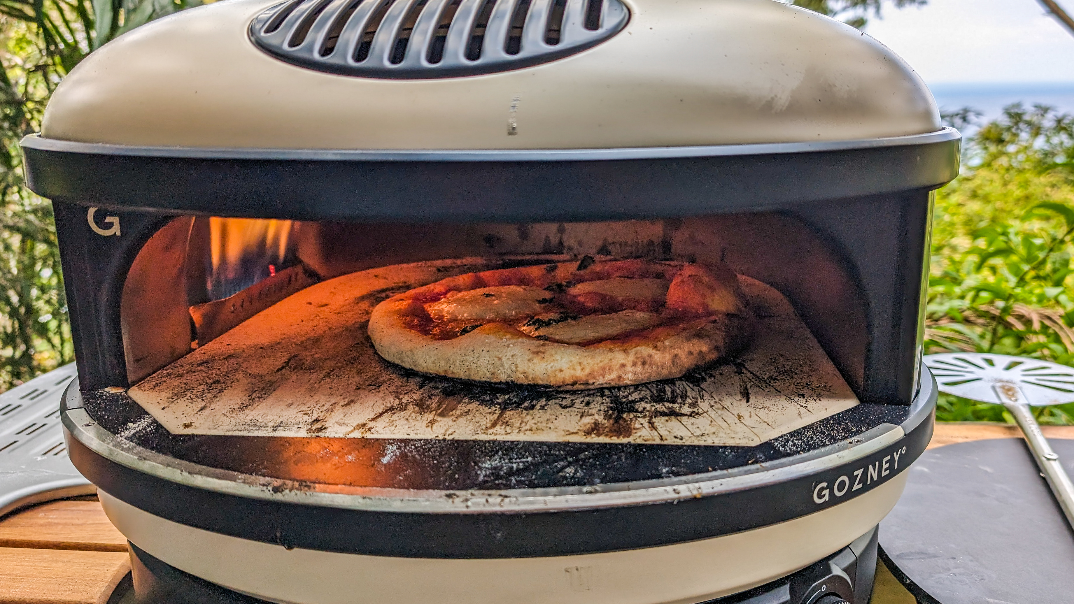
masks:
<path id="1" fill-rule="evenodd" d="M 1058 0 L 1074 14 L 1074 0 Z M 930 86 L 979 83 L 1074 85 L 1074 34 L 1036 0 L 884 3 L 866 32 L 906 60 Z"/>

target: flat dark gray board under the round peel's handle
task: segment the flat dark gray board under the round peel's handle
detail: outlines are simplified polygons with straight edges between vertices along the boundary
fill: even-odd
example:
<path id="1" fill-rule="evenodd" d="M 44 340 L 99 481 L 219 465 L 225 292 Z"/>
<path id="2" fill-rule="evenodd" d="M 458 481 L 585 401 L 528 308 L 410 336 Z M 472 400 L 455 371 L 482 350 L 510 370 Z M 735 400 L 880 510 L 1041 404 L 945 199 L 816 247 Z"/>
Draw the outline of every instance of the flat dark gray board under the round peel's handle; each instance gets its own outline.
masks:
<path id="1" fill-rule="evenodd" d="M 1049 442 L 1074 474 L 1074 440 Z M 923 603 L 1074 602 L 1074 531 L 1021 439 L 925 452 L 880 545 Z"/>

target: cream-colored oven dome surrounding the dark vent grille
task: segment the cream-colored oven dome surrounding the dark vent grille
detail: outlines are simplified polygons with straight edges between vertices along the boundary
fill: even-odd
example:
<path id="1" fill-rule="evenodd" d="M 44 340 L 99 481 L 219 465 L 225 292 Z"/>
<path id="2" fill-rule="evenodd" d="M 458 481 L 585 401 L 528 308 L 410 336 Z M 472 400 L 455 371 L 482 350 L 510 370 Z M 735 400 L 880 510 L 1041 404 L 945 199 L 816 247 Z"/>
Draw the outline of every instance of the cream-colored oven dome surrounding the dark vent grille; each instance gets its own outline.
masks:
<path id="1" fill-rule="evenodd" d="M 888 48 L 773 0 L 623 0 L 628 23 L 587 49 L 427 79 L 336 75 L 270 55 L 251 41 L 250 24 L 278 3 L 217 2 L 104 45 L 56 90 L 42 135 L 135 146 L 570 149 L 940 129 L 925 84 Z"/>

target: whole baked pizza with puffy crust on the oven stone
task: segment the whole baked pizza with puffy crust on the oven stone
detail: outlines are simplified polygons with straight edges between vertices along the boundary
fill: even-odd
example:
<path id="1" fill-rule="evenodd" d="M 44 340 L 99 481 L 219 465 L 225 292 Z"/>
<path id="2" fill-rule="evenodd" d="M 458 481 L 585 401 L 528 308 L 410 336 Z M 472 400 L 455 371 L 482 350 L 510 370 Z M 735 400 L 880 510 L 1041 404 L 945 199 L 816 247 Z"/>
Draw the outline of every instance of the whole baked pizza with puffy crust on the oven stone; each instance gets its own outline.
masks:
<path id="1" fill-rule="evenodd" d="M 422 373 L 586 389 L 680 378 L 752 328 L 726 265 L 585 256 L 410 290 L 377 305 L 368 332 L 380 356 Z"/>

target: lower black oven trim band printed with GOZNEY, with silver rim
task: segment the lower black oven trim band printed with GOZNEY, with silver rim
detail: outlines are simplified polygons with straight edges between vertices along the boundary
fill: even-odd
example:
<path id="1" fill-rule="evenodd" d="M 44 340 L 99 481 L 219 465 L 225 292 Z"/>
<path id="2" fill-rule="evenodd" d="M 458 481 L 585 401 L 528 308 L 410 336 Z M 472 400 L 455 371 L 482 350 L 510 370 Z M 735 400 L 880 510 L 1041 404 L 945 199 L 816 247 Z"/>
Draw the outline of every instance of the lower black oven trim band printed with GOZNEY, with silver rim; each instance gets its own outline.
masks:
<path id="1" fill-rule="evenodd" d="M 638 483 L 564 487 L 528 498 L 511 490 L 454 497 L 417 491 L 436 495 L 419 499 L 408 491 L 407 500 L 374 493 L 392 489 L 368 489 L 369 496 L 311 493 L 288 481 L 169 458 L 104 430 L 77 407 L 79 400 L 77 386 L 69 387 L 61 415 L 75 467 L 110 495 L 150 514 L 285 547 L 416 558 L 523 558 L 711 539 L 843 503 L 894 478 L 925 451 L 937 388 L 933 380 L 923 381 L 901 426 L 881 426 L 871 439 L 867 433 L 779 460 L 778 468 L 647 482 L 663 485 L 652 488 Z M 467 498 L 475 505 L 467 507 Z M 527 499 L 529 505 L 523 505 Z M 543 510 L 533 505 L 540 500 L 551 503 Z"/>

